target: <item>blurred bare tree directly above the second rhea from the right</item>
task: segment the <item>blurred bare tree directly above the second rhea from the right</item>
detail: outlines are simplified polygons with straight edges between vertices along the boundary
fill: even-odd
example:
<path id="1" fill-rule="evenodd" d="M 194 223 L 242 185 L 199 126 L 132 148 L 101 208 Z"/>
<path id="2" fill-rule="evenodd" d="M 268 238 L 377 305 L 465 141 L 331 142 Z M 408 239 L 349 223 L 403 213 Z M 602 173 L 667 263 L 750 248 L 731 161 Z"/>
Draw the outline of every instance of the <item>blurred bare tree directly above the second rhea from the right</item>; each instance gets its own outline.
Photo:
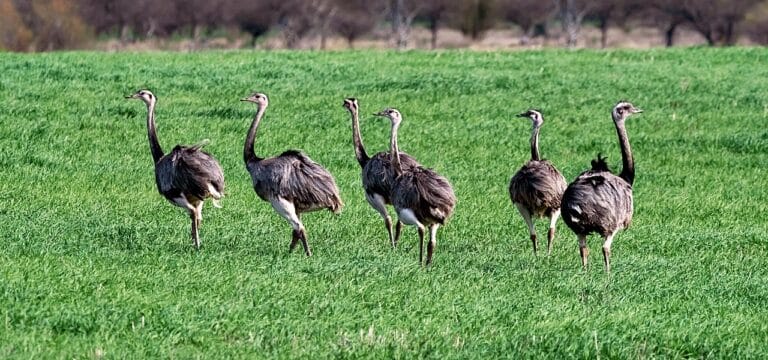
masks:
<path id="1" fill-rule="evenodd" d="M 557 8 L 554 2 L 541 0 L 501 0 L 499 7 L 504 19 L 523 31 L 520 45 L 528 45 L 536 26 L 547 22 Z"/>

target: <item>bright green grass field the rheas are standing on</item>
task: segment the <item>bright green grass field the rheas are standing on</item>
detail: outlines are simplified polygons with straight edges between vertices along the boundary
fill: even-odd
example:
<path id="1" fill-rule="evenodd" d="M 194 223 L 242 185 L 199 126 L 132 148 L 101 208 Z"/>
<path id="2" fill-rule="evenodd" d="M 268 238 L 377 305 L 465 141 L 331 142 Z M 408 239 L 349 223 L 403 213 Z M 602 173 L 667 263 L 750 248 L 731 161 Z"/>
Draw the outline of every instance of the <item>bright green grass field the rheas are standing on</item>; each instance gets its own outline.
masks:
<path id="1" fill-rule="evenodd" d="M 0 54 L 0 358 L 657 358 L 768 356 L 768 50 Z M 202 250 L 156 191 L 145 106 L 166 151 L 211 139 L 227 181 Z M 306 151 L 336 177 L 341 215 L 303 217 L 315 255 L 242 163 Z M 400 146 L 459 199 L 431 268 L 407 228 L 388 245 L 365 202 L 344 97 L 369 153 Z M 627 127 L 635 216 L 603 271 L 581 270 L 562 220 L 534 257 L 509 201 L 541 108 L 544 157 L 570 181 Z M 545 237 L 546 221 L 538 223 Z"/>

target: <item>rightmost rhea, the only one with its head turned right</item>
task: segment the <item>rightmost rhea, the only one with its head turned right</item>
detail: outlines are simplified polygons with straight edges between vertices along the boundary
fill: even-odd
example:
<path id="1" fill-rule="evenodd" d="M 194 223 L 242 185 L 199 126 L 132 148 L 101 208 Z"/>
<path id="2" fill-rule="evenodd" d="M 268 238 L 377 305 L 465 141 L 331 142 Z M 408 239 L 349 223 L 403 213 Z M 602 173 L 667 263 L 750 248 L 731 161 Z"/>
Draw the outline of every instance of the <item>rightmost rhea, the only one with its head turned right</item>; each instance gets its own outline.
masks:
<path id="1" fill-rule="evenodd" d="M 632 222 L 635 162 L 625 122 L 630 115 L 639 112 L 642 110 L 626 101 L 620 101 L 611 112 L 621 147 L 621 173 L 618 176 L 611 173 L 605 158 L 598 154 L 592 161 L 592 168 L 579 175 L 563 194 L 563 220 L 579 238 L 581 265 L 585 269 L 589 256 L 587 235 L 597 233 L 603 237 L 603 261 L 605 271 L 610 272 L 613 238 Z"/>

